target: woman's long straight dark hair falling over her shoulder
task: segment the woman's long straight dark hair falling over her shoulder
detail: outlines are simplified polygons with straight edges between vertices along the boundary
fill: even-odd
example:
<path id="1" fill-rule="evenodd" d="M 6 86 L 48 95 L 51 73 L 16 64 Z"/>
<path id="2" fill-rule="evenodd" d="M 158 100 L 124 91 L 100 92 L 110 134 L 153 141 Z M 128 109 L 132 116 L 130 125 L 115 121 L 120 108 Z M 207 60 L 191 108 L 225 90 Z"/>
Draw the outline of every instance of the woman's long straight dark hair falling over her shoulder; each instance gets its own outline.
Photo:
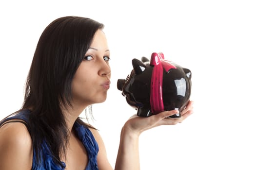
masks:
<path id="1" fill-rule="evenodd" d="M 71 86 L 94 34 L 104 25 L 90 18 L 60 17 L 43 31 L 26 81 L 21 109 L 30 109 L 28 125 L 39 161 L 40 146 L 46 142 L 54 161 L 61 165 L 69 132 L 63 108 L 72 107 Z M 78 118 L 80 123 L 81 119 Z"/>

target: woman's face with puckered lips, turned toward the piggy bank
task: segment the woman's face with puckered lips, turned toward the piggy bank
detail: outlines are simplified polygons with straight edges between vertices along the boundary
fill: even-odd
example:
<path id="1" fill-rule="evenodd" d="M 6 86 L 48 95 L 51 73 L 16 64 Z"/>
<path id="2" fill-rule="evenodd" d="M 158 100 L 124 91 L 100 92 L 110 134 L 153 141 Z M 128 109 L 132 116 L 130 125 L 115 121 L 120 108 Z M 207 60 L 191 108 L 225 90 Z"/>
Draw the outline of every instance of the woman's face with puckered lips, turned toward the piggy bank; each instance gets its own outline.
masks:
<path id="1" fill-rule="evenodd" d="M 87 106 L 106 100 L 111 76 L 109 56 L 106 36 L 98 30 L 73 79 L 72 95 L 75 104 Z"/>

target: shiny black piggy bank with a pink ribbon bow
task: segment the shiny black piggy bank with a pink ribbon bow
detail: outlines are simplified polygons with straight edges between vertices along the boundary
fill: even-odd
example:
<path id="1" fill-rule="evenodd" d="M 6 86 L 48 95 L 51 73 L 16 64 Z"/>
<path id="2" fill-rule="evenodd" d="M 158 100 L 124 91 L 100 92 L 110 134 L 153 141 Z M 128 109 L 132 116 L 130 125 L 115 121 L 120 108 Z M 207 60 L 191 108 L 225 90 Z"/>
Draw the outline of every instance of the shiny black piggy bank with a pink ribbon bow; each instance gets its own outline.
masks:
<path id="1" fill-rule="evenodd" d="M 191 71 L 165 60 L 163 53 L 153 52 L 151 59 L 132 60 L 133 70 L 126 79 L 118 79 L 118 90 L 140 117 L 149 117 L 166 110 L 180 112 L 191 95 Z"/>

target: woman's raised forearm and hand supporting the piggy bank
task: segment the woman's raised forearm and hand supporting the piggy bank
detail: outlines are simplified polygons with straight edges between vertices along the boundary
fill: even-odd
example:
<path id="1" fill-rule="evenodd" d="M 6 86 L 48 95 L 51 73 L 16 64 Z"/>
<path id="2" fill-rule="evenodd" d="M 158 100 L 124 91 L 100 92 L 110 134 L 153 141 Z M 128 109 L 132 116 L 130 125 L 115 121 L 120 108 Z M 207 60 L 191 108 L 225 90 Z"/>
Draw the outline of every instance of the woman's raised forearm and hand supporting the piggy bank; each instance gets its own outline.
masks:
<path id="1" fill-rule="evenodd" d="M 175 125 L 193 113 L 193 102 L 181 112 L 179 119 L 166 119 L 176 114 L 176 110 L 161 112 L 148 118 L 133 116 L 123 126 L 115 170 L 139 170 L 138 138 L 139 135 L 160 125 Z"/>

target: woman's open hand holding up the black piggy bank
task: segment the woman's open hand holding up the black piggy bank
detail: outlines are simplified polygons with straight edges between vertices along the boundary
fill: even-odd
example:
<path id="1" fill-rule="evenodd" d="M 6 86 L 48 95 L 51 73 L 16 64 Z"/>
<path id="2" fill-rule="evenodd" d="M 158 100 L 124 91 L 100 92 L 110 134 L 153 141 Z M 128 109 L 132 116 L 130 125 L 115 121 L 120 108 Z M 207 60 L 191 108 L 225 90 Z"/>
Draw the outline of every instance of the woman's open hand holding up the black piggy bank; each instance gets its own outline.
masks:
<path id="1" fill-rule="evenodd" d="M 150 117 L 138 117 L 137 115 L 134 115 L 126 121 L 124 128 L 126 131 L 128 130 L 130 133 L 135 133 L 139 136 L 143 131 L 160 125 L 175 125 L 181 123 L 193 113 L 193 101 L 189 101 L 187 106 L 181 111 L 180 118 L 168 118 L 177 113 L 177 110 L 171 110 Z"/>

